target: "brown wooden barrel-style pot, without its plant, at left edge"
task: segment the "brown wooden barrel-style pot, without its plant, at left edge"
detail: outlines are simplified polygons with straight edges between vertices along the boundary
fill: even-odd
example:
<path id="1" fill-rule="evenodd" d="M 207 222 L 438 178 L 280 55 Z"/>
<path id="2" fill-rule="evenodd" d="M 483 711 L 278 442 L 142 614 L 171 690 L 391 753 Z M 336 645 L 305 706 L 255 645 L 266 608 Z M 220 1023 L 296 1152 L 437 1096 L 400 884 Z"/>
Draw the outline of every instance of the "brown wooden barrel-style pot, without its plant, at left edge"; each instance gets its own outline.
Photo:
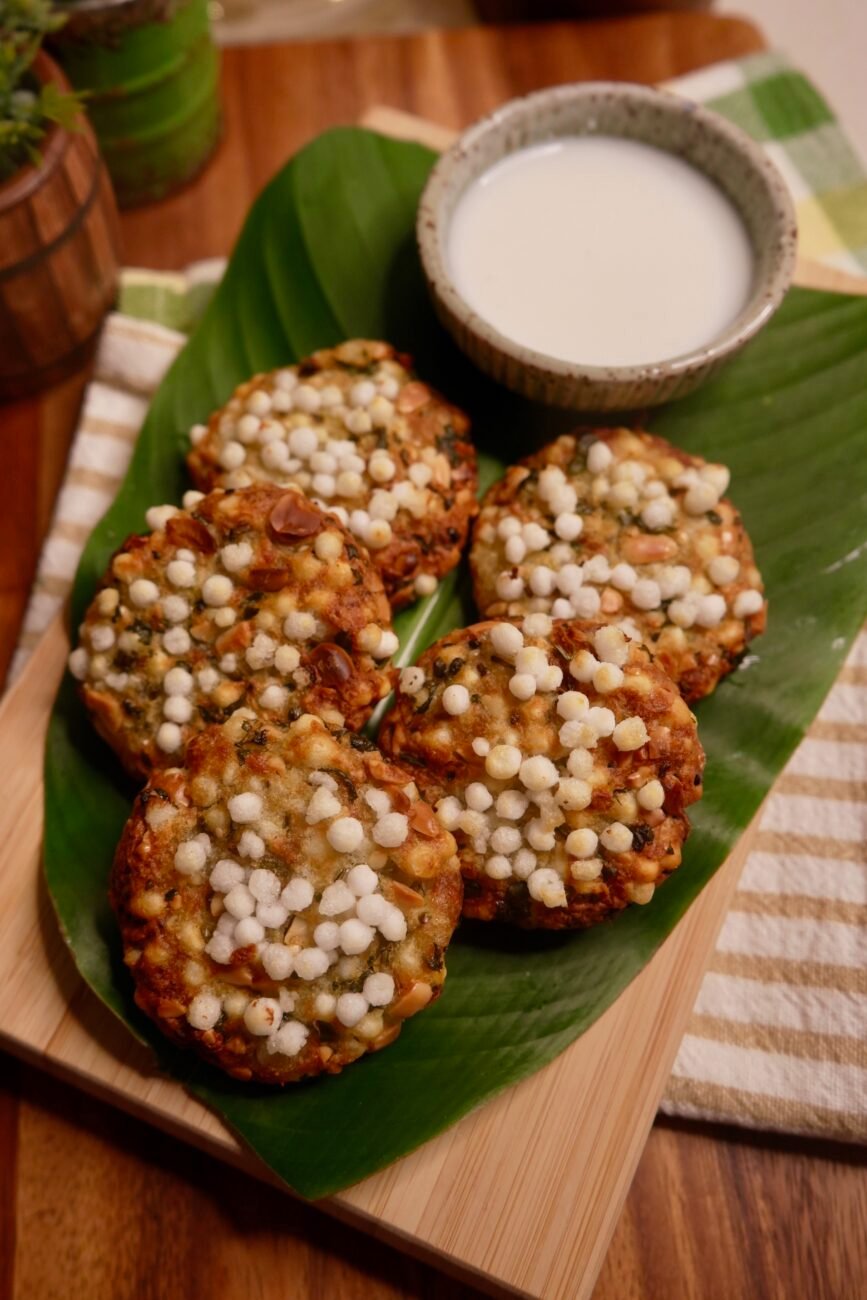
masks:
<path id="1" fill-rule="evenodd" d="M 44 51 L 34 73 L 69 90 Z M 40 152 L 0 185 L 0 398 L 81 367 L 117 289 L 117 209 L 92 130 L 53 127 Z"/>

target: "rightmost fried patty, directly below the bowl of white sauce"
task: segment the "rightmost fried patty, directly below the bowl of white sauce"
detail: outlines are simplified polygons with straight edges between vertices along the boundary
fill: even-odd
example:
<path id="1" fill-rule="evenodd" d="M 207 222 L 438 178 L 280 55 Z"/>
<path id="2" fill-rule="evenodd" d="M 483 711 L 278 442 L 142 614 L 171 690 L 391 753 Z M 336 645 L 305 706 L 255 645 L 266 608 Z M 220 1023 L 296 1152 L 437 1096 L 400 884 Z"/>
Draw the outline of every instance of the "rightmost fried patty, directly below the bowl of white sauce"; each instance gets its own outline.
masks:
<path id="1" fill-rule="evenodd" d="M 686 699 L 710 694 L 767 615 L 728 481 L 724 465 L 649 433 L 558 438 L 482 502 L 471 552 L 481 614 L 619 624 Z"/>

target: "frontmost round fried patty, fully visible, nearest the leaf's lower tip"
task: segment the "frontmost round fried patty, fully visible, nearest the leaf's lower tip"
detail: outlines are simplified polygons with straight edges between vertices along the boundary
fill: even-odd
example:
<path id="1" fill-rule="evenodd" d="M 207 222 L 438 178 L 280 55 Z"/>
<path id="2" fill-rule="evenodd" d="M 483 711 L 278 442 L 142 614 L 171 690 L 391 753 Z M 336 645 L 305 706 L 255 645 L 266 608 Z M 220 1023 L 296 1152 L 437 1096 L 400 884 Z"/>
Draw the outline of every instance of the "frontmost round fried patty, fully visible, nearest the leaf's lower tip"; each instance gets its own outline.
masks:
<path id="1" fill-rule="evenodd" d="M 455 841 L 412 774 L 309 714 L 239 710 L 155 774 L 112 905 L 135 1001 L 238 1079 L 337 1074 L 435 998 Z"/>

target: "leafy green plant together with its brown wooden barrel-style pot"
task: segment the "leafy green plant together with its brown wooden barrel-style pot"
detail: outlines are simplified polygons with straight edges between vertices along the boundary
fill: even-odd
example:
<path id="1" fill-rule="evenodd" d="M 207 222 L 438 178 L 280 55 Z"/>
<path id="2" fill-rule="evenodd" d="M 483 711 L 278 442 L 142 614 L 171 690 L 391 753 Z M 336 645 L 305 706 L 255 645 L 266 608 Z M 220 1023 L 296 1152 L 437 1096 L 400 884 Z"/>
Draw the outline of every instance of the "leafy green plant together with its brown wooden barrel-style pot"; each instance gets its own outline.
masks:
<path id="1" fill-rule="evenodd" d="M 42 49 L 57 22 L 49 0 L 4 0 L 0 398 L 82 365 L 116 294 L 110 182 L 81 101 Z"/>

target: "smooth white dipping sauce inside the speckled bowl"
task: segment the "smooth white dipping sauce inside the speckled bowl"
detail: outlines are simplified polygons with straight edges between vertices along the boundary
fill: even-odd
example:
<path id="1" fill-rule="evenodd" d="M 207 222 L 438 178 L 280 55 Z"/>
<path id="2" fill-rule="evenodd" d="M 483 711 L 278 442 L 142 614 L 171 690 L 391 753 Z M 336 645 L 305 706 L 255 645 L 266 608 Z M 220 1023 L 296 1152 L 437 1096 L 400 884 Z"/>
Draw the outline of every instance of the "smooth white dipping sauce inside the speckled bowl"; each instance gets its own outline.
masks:
<path id="1" fill-rule="evenodd" d="M 746 228 L 681 159 L 608 135 L 510 155 L 459 199 L 447 263 L 500 334 L 564 361 L 663 361 L 710 343 L 753 282 Z"/>

